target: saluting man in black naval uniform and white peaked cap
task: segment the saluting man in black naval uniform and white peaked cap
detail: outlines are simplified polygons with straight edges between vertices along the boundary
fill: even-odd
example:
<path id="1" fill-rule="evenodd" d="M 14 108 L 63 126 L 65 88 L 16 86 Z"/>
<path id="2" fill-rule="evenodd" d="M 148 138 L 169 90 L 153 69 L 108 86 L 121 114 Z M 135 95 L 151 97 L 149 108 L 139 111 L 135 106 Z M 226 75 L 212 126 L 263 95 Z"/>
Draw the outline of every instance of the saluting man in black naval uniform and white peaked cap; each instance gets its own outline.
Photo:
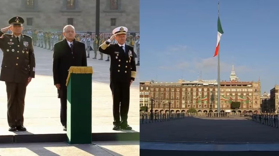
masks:
<path id="1" fill-rule="evenodd" d="M 110 55 L 110 89 L 113 99 L 113 130 L 132 129 L 127 123 L 130 85 L 135 81 L 136 64 L 133 47 L 126 45 L 126 27 L 117 27 L 112 36 L 99 46 L 99 51 Z M 115 38 L 117 43 L 110 44 Z M 120 112 L 119 112 L 120 109 Z M 121 116 L 121 122 L 120 122 Z"/>

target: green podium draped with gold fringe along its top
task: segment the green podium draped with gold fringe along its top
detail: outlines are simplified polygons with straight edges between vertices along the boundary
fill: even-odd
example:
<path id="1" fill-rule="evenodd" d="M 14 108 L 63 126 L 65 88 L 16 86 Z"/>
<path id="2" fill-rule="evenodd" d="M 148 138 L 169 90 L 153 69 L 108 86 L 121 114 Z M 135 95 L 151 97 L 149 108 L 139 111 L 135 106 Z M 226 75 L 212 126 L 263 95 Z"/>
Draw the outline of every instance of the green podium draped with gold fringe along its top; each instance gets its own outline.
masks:
<path id="1" fill-rule="evenodd" d="M 67 78 L 67 142 L 92 142 L 92 67 L 71 66 Z"/>

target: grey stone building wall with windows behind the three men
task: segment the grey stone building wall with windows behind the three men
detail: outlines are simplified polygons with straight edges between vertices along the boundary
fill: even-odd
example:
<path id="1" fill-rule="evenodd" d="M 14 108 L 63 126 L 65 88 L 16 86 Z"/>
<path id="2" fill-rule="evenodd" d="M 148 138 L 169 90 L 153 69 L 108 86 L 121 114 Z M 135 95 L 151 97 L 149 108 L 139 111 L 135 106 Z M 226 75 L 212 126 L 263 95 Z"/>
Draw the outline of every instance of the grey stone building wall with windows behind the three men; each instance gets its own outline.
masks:
<path id="1" fill-rule="evenodd" d="M 95 31 L 95 0 L 1 0 L 0 27 L 12 16 L 24 18 L 24 28 L 62 31 L 72 24 L 76 31 Z M 100 31 L 125 26 L 140 31 L 139 0 L 100 0 Z"/>

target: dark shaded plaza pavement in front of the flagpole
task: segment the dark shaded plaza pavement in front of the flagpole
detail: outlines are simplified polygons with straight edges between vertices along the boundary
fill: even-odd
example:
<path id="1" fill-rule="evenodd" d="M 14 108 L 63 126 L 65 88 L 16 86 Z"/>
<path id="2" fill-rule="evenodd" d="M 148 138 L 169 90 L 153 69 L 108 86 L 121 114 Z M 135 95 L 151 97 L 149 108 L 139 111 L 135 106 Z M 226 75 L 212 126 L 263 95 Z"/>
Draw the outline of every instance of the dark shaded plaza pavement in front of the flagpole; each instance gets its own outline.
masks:
<path id="1" fill-rule="evenodd" d="M 185 117 L 140 125 L 140 141 L 279 142 L 279 129 L 244 117 Z"/>

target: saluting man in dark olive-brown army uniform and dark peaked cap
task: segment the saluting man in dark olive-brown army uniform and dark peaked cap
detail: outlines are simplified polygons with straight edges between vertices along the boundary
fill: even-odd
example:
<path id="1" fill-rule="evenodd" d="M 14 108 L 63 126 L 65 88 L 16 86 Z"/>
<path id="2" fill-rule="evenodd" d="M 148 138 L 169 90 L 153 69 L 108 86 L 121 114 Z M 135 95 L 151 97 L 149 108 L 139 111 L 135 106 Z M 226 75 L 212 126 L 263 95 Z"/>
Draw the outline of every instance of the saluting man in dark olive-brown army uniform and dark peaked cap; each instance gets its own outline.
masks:
<path id="1" fill-rule="evenodd" d="M 32 38 L 22 34 L 22 17 L 9 20 L 9 27 L 0 31 L 3 51 L 0 80 L 5 81 L 8 98 L 9 131 L 26 131 L 23 126 L 26 86 L 35 77 L 35 55 Z M 10 29 L 12 34 L 4 34 Z"/>

